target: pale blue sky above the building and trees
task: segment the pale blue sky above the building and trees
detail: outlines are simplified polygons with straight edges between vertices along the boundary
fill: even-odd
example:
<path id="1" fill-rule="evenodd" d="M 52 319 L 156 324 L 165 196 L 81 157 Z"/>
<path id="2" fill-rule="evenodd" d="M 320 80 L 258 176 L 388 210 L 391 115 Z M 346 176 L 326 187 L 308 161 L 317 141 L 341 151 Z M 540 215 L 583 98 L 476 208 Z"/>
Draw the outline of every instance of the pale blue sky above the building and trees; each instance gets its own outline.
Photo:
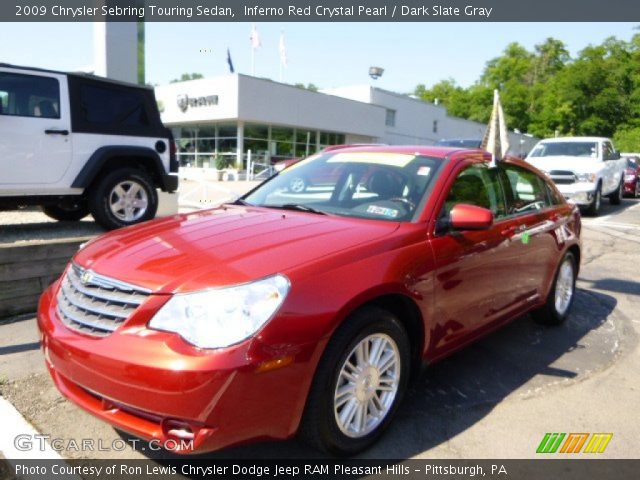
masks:
<path id="1" fill-rule="evenodd" d="M 572 55 L 609 36 L 629 40 L 638 23 L 258 23 L 262 46 L 255 75 L 280 79 L 278 44 L 284 32 L 288 67 L 282 81 L 320 88 L 374 84 L 400 93 L 452 78 L 474 83 L 510 42 L 527 49 L 547 37 Z M 165 84 L 183 73 L 228 73 L 227 48 L 237 73 L 251 74 L 248 23 L 146 24 L 147 82 Z M 46 39 L 46 41 L 43 41 Z M 0 62 L 56 70 L 93 64 L 92 23 L 3 23 Z M 373 81 L 370 66 L 385 69 Z"/>

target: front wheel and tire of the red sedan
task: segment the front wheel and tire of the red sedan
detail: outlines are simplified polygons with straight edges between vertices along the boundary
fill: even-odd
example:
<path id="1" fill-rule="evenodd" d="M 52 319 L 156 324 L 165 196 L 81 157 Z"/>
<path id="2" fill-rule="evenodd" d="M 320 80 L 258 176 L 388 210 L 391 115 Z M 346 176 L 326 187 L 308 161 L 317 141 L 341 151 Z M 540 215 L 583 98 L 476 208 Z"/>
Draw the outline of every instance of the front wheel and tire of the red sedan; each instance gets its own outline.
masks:
<path id="1" fill-rule="evenodd" d="M 378 440 L 407 388 L 410 344 L 397 317 L 377 307 L 351 316 L 318 366 L 300 436 L 334 455 L 354 455 Z"/>

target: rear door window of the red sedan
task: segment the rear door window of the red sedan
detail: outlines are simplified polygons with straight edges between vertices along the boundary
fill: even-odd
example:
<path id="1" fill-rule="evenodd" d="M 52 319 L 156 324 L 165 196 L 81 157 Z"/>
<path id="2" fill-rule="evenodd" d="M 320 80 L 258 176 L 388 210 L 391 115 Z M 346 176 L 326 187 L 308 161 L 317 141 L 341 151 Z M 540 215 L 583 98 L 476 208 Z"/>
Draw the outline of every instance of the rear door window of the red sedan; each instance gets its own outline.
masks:
<path id="1" fill-rule="evenodd" d="M 516 165 L 506 165 L 503 171 L 507 183 L 509 215 L 542 210 L 551 206 L 546 183 L 538 175 Z"/>

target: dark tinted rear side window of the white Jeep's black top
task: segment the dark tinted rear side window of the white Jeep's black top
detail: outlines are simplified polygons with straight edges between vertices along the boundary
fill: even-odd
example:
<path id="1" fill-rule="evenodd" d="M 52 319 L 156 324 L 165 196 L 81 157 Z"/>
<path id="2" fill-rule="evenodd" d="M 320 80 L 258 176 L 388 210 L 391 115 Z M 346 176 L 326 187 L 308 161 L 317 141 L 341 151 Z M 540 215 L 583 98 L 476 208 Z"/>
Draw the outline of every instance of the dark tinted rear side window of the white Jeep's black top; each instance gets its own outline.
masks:
<path id="1" fill-rule="evenodd" d="M 144 96 L 137 91 L 122 91 L 94 85 L 80 88 L 83 120 L 108 126 L 148 126 Z"/>

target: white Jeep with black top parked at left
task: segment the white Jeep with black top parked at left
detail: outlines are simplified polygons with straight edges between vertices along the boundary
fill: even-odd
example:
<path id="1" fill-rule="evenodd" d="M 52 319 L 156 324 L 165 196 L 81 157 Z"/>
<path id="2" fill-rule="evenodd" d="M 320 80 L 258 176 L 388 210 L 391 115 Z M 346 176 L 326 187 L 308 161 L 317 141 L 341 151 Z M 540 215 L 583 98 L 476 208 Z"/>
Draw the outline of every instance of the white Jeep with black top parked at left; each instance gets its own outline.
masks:
<path id="1" fill-rule="evenodd" d="M 123 227 L 155 216 L 177 171 L 151 88 L 0 64 L 0 210 Z"/>

